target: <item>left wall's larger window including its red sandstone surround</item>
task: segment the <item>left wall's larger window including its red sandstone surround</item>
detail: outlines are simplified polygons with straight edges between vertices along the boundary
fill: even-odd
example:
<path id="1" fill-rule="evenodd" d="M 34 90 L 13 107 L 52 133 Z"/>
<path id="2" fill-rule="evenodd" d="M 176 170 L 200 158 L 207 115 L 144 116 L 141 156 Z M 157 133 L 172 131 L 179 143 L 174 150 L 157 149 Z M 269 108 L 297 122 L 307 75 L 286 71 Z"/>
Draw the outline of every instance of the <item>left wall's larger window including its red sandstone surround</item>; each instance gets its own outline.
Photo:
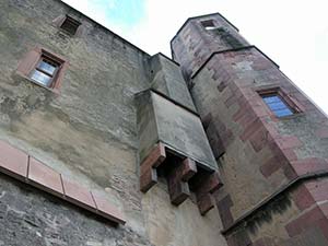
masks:
<path id="1" fill-rule="evenodd" d="M 58 93 L 67 63 L 63 58 L 36 47 L 21 60 L 16 72 L 30 81 Z"/>

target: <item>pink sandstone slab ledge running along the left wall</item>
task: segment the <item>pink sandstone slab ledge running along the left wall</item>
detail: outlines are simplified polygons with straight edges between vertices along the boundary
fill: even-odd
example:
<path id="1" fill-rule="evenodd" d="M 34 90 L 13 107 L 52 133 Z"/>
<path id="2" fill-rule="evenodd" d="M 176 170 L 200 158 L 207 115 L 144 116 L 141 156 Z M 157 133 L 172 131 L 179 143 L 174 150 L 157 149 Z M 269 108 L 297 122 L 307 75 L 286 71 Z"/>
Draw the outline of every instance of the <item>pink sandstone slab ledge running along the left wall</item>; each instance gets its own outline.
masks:
<path id="1" fill-rule="evenodd" d="M 23 151 L 0 141 L 0 172 L 59 197 L 115 224 L 125 224 L 120 211 L 95 195 Z"/>

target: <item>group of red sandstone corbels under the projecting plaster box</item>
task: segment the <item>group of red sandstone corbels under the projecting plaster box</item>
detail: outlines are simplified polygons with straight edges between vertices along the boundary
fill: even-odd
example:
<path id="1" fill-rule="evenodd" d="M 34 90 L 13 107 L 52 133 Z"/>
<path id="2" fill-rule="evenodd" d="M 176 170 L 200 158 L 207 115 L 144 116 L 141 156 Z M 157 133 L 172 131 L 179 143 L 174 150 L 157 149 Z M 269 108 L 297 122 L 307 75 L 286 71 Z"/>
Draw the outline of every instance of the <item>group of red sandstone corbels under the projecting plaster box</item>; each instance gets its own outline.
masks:
<path id="1" fill-rule="evenodd" d="M 201 167 L 198 172 L 197 162 L 187 156 L 181 156 L 175 151 L 168 151 L 167 145 L 159 142 L 140 164 L 140 190 L 147 192 L 157 183 L 157 167 L 168 167 L 171 171 L 167 179 L 171 203 L 181 204 L 194 191 L 198 209 L 201 215 L 214 208 L 212 194 L 219 190 L 223 184 L 218 172 L 209 172 Z M 167 157 L 168 156 L 168 157 Z M 171 159 L 175 156 L 176 159 Z M 175 160 L 172 162 L 172 160 Z"/>

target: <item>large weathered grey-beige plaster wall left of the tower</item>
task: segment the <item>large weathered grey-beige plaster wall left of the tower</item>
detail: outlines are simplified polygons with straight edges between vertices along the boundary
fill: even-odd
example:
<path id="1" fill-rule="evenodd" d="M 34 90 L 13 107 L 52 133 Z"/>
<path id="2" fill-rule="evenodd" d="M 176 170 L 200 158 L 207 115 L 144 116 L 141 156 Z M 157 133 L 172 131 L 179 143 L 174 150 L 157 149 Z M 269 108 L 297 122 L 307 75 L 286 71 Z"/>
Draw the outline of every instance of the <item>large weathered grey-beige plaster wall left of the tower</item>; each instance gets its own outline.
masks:
<path id="1" fill-rule="evenodd" d="M 82 23 L 81 35 L 54 24 L 65 14 Z M 58 95 L 16 73 L 36 46 L 69 61 Z M 0 139 L 102 194 L 127 219 L 116 229 L 0 176 L 0 245 L 226 245 L 218 212 L 172 206 L 166 184 L 139 191 L 134 94 L 151 86 L 148 54 L 58 0 L 0 1 Z"/>

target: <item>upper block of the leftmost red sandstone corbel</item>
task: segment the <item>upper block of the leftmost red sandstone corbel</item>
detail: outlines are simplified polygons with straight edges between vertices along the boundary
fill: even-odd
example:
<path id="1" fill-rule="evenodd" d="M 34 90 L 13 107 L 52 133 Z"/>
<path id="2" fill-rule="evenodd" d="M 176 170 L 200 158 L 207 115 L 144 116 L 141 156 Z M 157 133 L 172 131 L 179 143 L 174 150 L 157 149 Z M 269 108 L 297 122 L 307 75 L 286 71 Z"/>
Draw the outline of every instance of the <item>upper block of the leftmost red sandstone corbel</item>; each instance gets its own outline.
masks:
<path id="1" fill-rule="evenodd" d="M 145 157 L 145 160 L 141 163 L 140 174 L 141 176 L 149 171 L 149 168 L 156 168 L 161 165 L 166 157 L 165 145 L 159 142 L 154 149 L 150 152 L 150 154 Z"/>

